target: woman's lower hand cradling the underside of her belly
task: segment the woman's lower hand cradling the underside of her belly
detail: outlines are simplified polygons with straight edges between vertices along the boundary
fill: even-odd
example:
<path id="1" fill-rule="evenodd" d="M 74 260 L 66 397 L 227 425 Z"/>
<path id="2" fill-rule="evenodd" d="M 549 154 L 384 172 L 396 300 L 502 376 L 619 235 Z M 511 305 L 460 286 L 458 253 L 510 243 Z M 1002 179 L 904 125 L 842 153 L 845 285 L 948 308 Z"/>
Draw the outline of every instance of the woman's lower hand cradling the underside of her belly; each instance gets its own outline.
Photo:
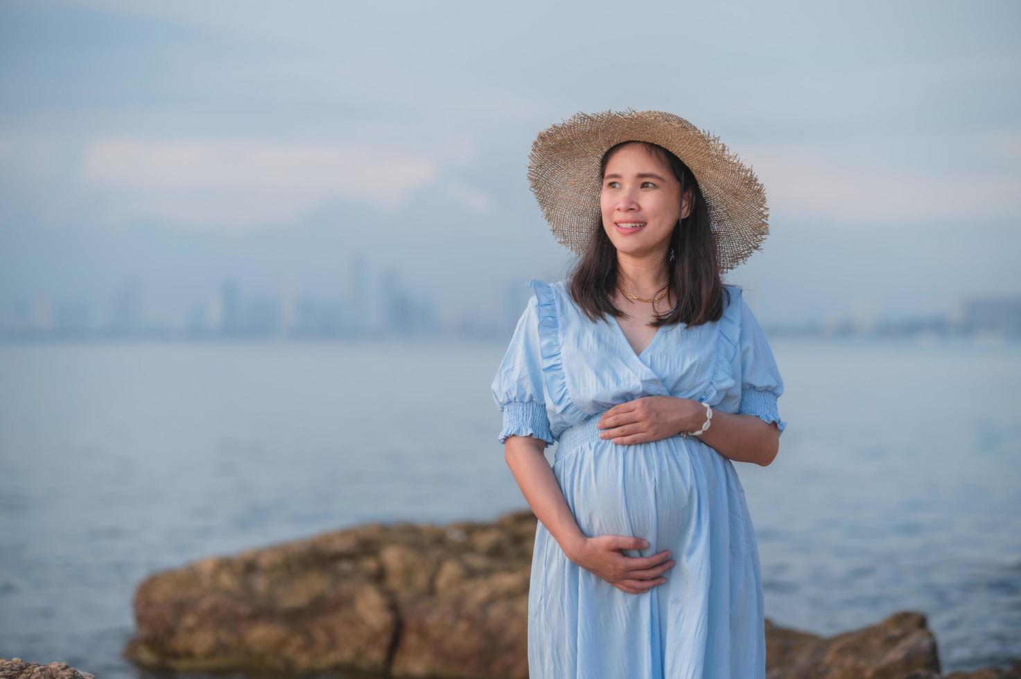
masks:
<path id="1" fill-rule="evenodd" d="M 667 579 L 661 576 L 675 564 L 670 559 L 669 549 L 651 556 L 625 556 L 621 552 L 622 549 L 642 549 L 646 544 L 640 537 L 586 536 L 574 546 L 568 557 L 614 587 L 629 594 L 640 594 L 665 583 Z"/>

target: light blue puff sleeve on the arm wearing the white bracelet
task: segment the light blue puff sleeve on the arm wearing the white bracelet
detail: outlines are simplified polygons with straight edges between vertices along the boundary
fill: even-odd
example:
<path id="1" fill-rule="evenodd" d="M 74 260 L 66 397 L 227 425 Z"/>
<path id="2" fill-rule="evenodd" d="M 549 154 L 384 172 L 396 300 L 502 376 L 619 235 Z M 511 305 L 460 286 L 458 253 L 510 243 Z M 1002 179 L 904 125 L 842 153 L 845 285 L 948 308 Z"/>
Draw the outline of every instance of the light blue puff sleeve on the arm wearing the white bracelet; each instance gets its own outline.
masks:
<path id="1" fill-rule="evenodd" d="M 741 296 L 741 402 L 737 411 L 775 422 L 780 434 L 787 423 L 780 419 L 777 398 L 783 393 L 783 379 L 773 358 L 766 335 L 751 308 Z"/>

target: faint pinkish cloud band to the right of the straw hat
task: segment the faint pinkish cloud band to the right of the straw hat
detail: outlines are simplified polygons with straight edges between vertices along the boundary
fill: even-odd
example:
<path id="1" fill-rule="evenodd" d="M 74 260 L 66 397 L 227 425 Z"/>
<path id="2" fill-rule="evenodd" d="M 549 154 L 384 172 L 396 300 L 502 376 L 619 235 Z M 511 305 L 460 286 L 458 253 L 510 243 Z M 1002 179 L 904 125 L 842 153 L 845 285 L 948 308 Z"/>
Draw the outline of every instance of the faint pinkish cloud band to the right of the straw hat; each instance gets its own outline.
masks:
<path id="1" fill-rule="evenodd" d="M 869 222 L 1021 216 L 1016 132 L 744 144 L 771 214 Z"/>

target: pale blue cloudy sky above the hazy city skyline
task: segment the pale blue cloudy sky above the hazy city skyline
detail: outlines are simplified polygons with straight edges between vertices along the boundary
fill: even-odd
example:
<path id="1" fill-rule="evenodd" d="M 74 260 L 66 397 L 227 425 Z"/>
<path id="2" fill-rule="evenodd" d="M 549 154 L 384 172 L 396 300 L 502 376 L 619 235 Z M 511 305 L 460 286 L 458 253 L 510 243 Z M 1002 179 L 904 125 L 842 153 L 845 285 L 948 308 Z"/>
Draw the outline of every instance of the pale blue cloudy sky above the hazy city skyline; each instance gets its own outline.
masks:
<path id="1" fill-rule="evenodd" d="M 444 313 L 495 303 L 568 271 L 535 136 L 626 108 L 765 185 L 726 277 L 764 323 L 1021 294 L 1019 29 L 984 0 L 4 0 L 0 304 L 328 296 L 358 256 Z"/>

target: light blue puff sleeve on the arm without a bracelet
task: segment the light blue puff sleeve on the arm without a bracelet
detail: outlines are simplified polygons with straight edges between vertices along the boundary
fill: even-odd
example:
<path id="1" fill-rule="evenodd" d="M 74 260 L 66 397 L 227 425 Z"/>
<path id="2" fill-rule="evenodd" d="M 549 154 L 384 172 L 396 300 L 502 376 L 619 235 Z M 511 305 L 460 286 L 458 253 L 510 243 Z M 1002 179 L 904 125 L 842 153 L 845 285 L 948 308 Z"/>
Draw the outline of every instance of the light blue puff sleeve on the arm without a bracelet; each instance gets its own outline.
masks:
<path id="1" fill-rule="evenodd" d="M 498 440 L 508 436 L 532 436 L 553 444 L 542 392 L 542 354 L 539 345 L 538 302 L 529 298 L 518 320 L 510 345 L 491 386 L 493 400 L 503 413 Z"/>

